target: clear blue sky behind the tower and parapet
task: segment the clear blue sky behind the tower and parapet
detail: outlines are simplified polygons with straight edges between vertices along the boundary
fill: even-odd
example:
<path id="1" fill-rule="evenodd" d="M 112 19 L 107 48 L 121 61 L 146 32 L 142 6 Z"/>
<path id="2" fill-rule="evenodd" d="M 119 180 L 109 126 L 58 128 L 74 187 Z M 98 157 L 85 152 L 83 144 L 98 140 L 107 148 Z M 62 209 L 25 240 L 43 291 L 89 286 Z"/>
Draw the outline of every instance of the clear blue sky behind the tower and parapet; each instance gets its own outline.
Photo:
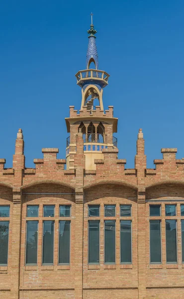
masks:
<path id="1" fill-rule="evenodd" d="M 93 12 L 99 68 L 110 74 L 119 158 L 134 167 L 143 129 L 147 167 L 161 148 L 184 156 L 183 0 L 0 1 L 0 158 L 12 167 L 18 128 L 26 167 L 42 148 L 65 157 L 69 106 L 80 109 L 75 74 L 85 68 Z"/>

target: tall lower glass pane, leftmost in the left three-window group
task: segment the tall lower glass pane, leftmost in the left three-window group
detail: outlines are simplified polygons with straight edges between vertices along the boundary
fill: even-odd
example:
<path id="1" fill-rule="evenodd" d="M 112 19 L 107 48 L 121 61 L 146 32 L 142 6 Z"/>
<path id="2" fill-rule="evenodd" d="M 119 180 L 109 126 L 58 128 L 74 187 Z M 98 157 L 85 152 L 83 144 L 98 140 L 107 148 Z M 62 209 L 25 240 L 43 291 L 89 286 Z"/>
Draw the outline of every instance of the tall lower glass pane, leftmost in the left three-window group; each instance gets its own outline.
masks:
<path id="1" fill-rule="evenodd" d="M 37 264 L 38 221 L 27 221 L 26 265 Z"/>

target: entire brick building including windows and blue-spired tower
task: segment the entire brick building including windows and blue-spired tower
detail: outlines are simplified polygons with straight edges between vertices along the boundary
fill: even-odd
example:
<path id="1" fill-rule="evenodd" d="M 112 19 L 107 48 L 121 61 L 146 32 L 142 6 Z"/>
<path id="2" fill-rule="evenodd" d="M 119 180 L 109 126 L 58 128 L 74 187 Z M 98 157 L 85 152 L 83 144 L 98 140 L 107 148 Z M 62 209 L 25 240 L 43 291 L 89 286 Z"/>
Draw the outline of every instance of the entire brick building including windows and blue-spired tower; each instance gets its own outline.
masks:
<path id="1" fill-rule="evenodd" d="M 147 168 L 142 129 L 135 167 L 118 159 L 93 23 L 88 33 L 66 159 L 44 148 L 25 167 L 21 129 L 12 168 L 0 159 L 0 299 L 184 299 L 184 159 L 161 149 Z"/>

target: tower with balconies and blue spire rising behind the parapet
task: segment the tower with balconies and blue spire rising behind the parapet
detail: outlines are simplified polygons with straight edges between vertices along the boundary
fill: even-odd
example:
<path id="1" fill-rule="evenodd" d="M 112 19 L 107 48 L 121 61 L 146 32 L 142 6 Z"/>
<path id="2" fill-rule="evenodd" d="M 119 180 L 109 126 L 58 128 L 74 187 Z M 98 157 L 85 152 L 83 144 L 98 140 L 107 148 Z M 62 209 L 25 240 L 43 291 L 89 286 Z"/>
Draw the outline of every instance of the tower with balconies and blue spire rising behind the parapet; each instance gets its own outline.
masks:
<path id="1" fill-rule="evenodd" d="M 70 106 L 70 117 L 66 118 L 67 139 L 66 159 L 67 169 L 74 169 L 76 154 L 76 135 L 82 133 L 86 170 L 95 170 L 94 159 L 103 159 L 104 149 L 117 148 L 117 118 L 113 117 L 113 106 L 103 109 L 103 88 L 108 85 L 109 75 L 98 69 L 98 55 L 93 24 L 88 30 L 89 44 L 86 59 L 86 69 L 76 74 L 77 84 L 82 88 L 81 110 Z M 91 65 L 93 64 L 93 68 Z M 98 106 L 94 106 L 97 101 Z"/>

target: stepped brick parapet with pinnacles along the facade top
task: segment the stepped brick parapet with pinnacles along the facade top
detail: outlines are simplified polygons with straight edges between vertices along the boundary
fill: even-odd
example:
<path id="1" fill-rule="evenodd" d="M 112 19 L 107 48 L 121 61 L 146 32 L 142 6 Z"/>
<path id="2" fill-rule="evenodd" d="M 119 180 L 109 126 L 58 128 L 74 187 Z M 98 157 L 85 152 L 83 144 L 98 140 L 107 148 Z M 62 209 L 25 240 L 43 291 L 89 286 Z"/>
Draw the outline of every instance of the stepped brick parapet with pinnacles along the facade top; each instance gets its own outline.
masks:
<path id="1" fill-rule="evenodd" d="M 88 123 L 84 122 L 84 125 L 88 126 Z M 184 158 L 176 158 L 176 148 L 161 149 L 163 158 L 154 160 L 156 167 L 146 167 L 144 138 L 141 129 L 138 133 L 135 168 L 133 169 L 125 168 L 126 159 L 118 159 L 118 149 L 114 144 L 107 143 L 104 146 L 104 144 L 92 141 L 91 150 L 89 150 L 89 141 L 84 139 L 82 130 L 79 131 L 75 135 L 75 144 L 70 144 L 70 167 L 68 169 L 65 169 L 67 159 L 57 158 L 59 152 L 57 148 L 43 148 L 43 158 L 34 159 L 35 168 L 28 168 L 25 167 L 23 135 L 22 130 L 19 129 L 13 155 L 13 167 L 5 168 L 5 159 L 0 159 L 0 182 L 15 188 L 41 180 L 57 180 L 73 186 L 78 184 L 80 188 L 89 183 L 98 183 L 109 179 L 137 185 L 140 188 L 157 182 L 184 182 Z M 88 161 L 85 159 L 86 154 L 93 154 L 93 147 L 96 155 L 93 160 L 95 169 L 89 168 Z"/>

